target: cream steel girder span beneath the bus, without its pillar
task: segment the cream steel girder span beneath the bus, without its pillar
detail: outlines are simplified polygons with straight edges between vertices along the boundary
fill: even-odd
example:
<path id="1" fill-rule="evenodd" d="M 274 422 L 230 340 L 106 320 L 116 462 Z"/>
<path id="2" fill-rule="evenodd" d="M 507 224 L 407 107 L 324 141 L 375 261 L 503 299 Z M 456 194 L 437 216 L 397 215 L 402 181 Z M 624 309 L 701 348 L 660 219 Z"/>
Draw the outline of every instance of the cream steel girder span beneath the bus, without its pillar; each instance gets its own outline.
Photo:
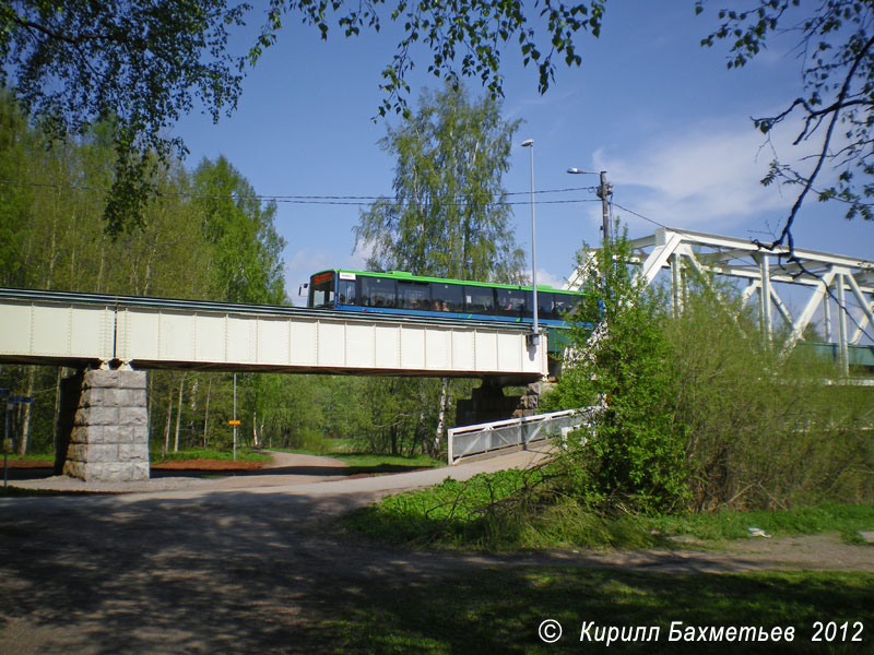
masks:
<path id="1" fill-rule="evenodd" d="M 486 321 L 0 289 L 0 362 L 75 368 L 494 377 L 547 373 L 546 340 Z"/>

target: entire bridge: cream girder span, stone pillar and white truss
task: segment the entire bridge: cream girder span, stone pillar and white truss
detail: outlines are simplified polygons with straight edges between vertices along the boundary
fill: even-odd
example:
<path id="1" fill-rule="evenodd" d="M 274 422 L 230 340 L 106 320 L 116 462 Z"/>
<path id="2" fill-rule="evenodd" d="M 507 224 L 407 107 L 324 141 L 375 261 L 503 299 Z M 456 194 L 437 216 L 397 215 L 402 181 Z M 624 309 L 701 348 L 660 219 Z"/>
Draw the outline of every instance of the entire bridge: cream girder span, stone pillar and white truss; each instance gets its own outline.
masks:
<path id="1" fill-rule="evenodd" d="M 648 284 L 668 273 L 675 312 L 689 275 L 728 276 L 745 283 L 744 301 L 757 301 L 763 340 L 784 335 L 782 354 L 804 344 L 831 355 L 841 383 L 853 382 L 851 367 L 874 370 L 874 261 L 802 249 L 790 258 L 748 239 L 673 228 L 631 246 Z M 578 288 L 581 275 L 567 287 Z M 802 290 L 794 313 L 783 287 Z M 0 362 L 81 371 L 62 384 L 58 433 L 70 441 L 59 443 L 56 462 L 66 458 L 64 473 L 85 479 L 149 477 L 146 369 L 479 377 L 491 382 L 468 409 L 480 421 L 511 413 L 500 385 L 548 372 L 546 338 L 531 345 L 527 326 L 437 317 L 0 289 Z M 810 338 L 813 325 L 819 334 Z M 482 416 L 479 407 L 489 406 L 501 416 Z"/>

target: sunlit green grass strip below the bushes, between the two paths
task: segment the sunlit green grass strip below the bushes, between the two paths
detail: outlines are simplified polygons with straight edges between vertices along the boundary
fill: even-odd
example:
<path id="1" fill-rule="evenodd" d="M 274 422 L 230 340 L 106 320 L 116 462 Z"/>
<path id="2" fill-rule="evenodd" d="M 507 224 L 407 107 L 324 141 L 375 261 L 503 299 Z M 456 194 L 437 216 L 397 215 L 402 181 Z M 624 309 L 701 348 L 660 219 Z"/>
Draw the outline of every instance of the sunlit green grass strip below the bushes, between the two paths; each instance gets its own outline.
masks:
<path id="1" fill-rule="evenodd" d="M 851 543 L 874 529 L 874 505 L 825 503 L 792 511 L 605 517 L 574 501 L 539 500 L 541 471 L 481 474 L 465 483 L 447 478 L 429 489 L 383 499 L 341 519 L 366 538 L 413 547 L 518 550 L 538 548 L 683 548 L 673 536 L 698 539 L 696 548 L 749 536 L 749 527 L 781 537 L 838 532 Z M 701 544 L 704 541 L 704 544 Z"/>

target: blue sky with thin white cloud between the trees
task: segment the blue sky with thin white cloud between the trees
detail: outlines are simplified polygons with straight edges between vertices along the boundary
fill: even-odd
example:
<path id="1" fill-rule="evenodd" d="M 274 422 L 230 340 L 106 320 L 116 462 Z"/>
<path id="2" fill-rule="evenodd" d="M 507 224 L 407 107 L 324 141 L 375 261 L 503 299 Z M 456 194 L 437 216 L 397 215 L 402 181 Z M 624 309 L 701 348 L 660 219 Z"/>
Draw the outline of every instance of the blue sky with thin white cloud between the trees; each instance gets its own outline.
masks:
<path id="1" fill-rule="evenodd" d="M 597 176 L 570 176 L 569 167 L 606 170 L 615 202 L 660 224 L 761 240 L 779 231 L 793 190 L 758 180 L 775 150 L 786 162 L 807 151 L 791 146 L 791 129 L 766 144 L 751 117 L 778 112 L 800 94 L 801 63 L 792 40 L 780 37 L 746 68 L 727 70 L 724 44 L 699 45 L 717 25 L 716 4 L 708 9 L 695 16 L 693 0 L 612 0 L 601 37 L 578 36 L 582 66 L 559 68 L 543 96 L 536 71 L 523 68 L 515 50 L 504 53 L 504 115 L 524 121 L 518 143 L 534 140 L 538 190 L 597 184 Z M 247 38 L 240 35 L 238 44 Z M 373 117 L 380 71 L 398 40 L 383 28 L 350 39 L 333 31 L 323 41 L 315 28 L 290 20 L 249 71 L 231 118 L 212 124 L 192 115 L 177 126 L 190 148 L 188 165 L 225 155 L 262 195 L 391 195 L 394 162 L 377 142 L 398 119 Z M 409 79 L 413 106 L 423 87 L 440 85 L 425 72 L 428 52 L 418 51 L 417 61 Z M 482 93 L 475 81 L 469 84 Z M 529 153 L 518 146 L 505 188 L 528 192 L 529 176 Z M 530 261 L 529 198 L 512 198 L 521 203 L 516 238 Z M 589 191 L 538 200 L 539 282 L 560 284 L 583 241 L 601 238 L 600 203 Z M 616 215 L 633 238 L 658 227 L 622 210 Z M 286 289 L 295 302 L 311 273 L 363 266 L 363 253 L 352 252 L 358 216 L 355 205 L 279 204 Z M 799 248 L 874 257 L 874 224 L 847 222 L 837 205 L 808 204 L 794 234 Z"/>

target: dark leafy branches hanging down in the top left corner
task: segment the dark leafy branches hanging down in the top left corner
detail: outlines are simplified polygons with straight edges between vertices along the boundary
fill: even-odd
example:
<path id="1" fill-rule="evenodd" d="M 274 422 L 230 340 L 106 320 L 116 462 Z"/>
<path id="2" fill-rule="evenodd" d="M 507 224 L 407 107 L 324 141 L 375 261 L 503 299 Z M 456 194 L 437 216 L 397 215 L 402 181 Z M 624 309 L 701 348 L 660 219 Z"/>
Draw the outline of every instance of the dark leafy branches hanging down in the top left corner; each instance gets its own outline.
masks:
<path id="1" fill-rule="evenodd" d="M 4 2 L 0 83 L 14 90 L 51 141 L 109 118 L 111 193 L 105 227 L 120 235 L 146 223 L 152 176 L 185 153 L 165 132 L 196 102 L 217 120 L 236 106 L 243 75 L 226 50 L 247 4 L 226 0 Z M 84 62 L 84 63 L 83 63 Z M 154 156 L 157 155 L 157 159 Z"/>

